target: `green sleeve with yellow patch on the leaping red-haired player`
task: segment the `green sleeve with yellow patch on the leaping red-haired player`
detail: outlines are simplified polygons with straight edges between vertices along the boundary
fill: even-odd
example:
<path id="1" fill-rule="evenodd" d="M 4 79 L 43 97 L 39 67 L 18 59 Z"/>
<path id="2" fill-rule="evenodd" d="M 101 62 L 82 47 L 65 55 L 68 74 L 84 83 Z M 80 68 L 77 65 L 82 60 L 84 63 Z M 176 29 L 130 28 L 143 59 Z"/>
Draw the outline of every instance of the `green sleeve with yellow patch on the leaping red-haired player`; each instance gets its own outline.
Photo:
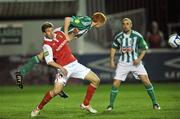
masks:
<path id="1" fill-rule="evenodd" d="M 75 27 L 86 27 L 91 25 L 92 19 L 88 16 L 72 16 L 70 24 Z"/>

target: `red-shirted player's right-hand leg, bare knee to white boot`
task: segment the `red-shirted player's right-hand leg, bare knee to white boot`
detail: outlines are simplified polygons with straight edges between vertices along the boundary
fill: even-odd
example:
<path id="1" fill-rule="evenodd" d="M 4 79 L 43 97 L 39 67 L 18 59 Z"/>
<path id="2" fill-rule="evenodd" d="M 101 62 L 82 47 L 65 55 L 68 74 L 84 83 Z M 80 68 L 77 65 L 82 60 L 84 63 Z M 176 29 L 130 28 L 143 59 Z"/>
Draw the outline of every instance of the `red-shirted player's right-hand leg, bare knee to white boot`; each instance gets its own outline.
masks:
<path id="1" fill-rule="evenodd" d="M 92 71 L 89 71 L 89 73 L 85 76 L 84 79 L 88 80 L 90 82 L 90 84 L 88 85 L 84 101 L 81 104 L 81 109 L 86 109 L 87 111 L 89 111 L 91 113 L 97 113 L 97 111 L 90 106 L 90 101 L 91 101 L 93 94 L 95 93 L 97 87 L 99 86 L 100 79 Z"/>

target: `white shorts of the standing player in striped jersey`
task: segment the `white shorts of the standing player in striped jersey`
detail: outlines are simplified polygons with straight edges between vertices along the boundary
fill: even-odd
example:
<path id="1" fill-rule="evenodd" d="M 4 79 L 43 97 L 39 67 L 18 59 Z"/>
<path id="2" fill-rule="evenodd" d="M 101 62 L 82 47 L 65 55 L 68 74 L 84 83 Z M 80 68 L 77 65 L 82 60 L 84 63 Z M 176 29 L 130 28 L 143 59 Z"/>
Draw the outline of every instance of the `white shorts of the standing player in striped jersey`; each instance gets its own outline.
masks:
<path id="1" fill-rule="evenodd" d="M 119 62 L 116 68 L 114 79 L 125 81 L 128 73 L 133 73 L 136 79 L 139 79 L 139 75 L 147 75 L 144 65 L 140 63 L 139 65 L 133 65 L 125 62 Z"/>

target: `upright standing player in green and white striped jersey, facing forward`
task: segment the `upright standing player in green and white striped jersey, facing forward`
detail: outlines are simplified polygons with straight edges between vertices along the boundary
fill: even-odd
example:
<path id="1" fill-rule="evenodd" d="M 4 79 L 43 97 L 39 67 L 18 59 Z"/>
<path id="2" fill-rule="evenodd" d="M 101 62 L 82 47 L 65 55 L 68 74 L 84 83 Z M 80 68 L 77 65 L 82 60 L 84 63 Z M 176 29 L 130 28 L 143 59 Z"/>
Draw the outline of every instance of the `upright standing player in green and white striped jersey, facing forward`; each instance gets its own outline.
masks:
<path id="1" fill-rule="evenodd" d="M 148 46 L 140 33 L 132 30 L 132 21 L 129 18 L 122 20 L 122 32 L 117 34 L 112 42 L 110 52 L 110 66 L 115 68 L 114 56 L 116 51 L 120 52 L 120 58 L 117 64 L 112 89 L 110 92 L 110 103 L 107 107 L 108 111 L 112 111 L 114 101 L 118 94 L 118 87 L 121 81 L 125 81 L 128 73 L 133 73 L 135 78 L 140 79 L 150 96 L 153 108 L 159 110 L 160 106 L 154 94 L 154 88 L 151 84 L 146 69 L 142 64 L 142 59 L 146 53 Z"/>

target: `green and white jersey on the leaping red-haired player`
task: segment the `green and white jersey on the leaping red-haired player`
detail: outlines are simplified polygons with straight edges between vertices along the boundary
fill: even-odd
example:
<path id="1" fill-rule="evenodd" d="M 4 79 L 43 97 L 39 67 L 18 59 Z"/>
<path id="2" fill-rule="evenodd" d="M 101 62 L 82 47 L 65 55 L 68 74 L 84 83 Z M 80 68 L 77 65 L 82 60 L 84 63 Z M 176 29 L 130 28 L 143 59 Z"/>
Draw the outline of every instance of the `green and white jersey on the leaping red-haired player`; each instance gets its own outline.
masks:
<path id="1" fill-rule="evenodd" d="M 72 16 L 68 31 L 72 32 L 75 28 L 79 30 L 76 37 L 80 37 L 87 33 L 92 27 L 92 19 L 88 16 Z M 64 31 L 64 26 L 61 28 Z"/>

